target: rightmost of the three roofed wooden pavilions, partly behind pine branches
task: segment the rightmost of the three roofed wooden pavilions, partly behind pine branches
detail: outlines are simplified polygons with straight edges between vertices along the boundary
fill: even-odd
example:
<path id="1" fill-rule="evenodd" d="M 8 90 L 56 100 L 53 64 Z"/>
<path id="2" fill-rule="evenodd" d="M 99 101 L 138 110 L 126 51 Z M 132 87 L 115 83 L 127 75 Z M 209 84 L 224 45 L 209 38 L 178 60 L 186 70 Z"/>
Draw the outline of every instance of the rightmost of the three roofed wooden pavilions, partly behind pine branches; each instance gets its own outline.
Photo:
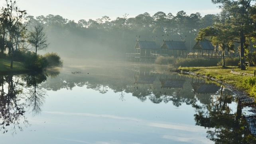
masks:
<path id="1" fill-rule="evenodd" d="M 195 56 L 195 50 L 197 50 L 197 56 L 207 56 L 208 52 L 208 57 L 210 57 L 211 52 L 211 57 L 213 57 L 213 51 L 215 51 L 215 48 L 210 41 L 197 41 L 193 47 L 193 56 Z M 216 56 L 216 51 L 214 55 Z"/>

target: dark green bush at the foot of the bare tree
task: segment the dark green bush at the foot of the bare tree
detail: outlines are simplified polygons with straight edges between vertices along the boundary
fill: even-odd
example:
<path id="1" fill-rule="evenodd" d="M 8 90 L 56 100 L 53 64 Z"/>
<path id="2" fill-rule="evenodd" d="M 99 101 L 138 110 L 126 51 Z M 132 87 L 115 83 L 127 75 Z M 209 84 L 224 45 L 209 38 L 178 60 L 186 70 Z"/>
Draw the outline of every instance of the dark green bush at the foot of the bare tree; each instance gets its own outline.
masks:
<path id="1" fill-rule="evenodd" d="M 48 65 L 47 59 L 43 56 L 35 55 L 33 52 L 28 52 L 24 65 L 27 69 L 33 69 L 35 71 L 41 71 Z"/>

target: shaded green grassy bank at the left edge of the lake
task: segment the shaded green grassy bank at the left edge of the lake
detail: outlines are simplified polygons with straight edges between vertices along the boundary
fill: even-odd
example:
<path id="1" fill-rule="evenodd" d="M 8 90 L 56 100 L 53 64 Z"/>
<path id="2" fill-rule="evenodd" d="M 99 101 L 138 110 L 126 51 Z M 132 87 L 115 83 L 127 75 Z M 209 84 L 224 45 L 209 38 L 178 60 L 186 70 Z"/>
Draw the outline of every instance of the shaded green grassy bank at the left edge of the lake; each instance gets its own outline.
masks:
<path id="1" fill-rule="evenodd" d="M 29 69 L 24 67 L 22 62 L 13 62 L 13 69 L 10 69 L 11 61 L 0 59 L 0 74 L 9 74 L 9 73 L 26 73 Z"/>

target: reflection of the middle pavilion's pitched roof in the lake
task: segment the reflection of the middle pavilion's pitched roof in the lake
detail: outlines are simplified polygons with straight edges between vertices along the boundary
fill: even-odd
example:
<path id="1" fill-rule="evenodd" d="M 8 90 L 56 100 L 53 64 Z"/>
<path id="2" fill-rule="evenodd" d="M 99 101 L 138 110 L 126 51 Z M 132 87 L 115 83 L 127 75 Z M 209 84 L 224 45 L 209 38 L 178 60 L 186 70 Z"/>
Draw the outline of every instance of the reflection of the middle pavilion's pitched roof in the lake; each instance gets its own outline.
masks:
<path id="1" fill-rule="evenodd" d="M 185 80 L 159 79 L 163 88 L 182 88 Z"/>

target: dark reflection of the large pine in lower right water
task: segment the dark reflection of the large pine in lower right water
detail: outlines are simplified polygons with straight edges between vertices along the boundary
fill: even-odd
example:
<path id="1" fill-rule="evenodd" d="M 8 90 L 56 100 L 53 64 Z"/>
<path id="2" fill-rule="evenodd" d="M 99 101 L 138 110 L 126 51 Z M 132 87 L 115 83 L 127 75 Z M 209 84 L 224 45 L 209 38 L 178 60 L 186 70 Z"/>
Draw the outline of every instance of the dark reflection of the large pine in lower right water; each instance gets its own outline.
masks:
<path id="1" fill-rule="evenodd" d="M 197 109 L 196 125 L 208 128 L 207 138 L 215 144 L 255 144 L 248 123 L 242 115 L 242 106 L 238 102 L 235 112 L 230 109 L 232 96 L 223 94 L 223 86 L 218 97 L 203 106 L 193 105 Z M 210 130 L 213 128 L 214 130 Z"/>

